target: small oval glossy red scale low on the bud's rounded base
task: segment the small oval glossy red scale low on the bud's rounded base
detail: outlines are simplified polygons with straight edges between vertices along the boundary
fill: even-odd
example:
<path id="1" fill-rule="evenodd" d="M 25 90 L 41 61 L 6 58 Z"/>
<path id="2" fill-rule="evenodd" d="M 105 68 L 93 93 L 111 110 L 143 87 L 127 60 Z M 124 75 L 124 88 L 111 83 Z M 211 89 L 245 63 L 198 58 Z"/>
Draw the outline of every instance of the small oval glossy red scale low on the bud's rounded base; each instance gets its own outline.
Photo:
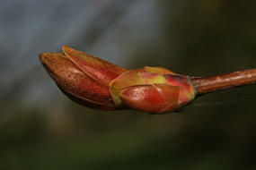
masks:
<path id="1" fill-rule="evenodd" d="M 179 87 L 162 84 L 137 85 L 121 89 L 120 98 L 125 105 L 148 113 L 165 113 L 178 106 Z M 163 92 L 164 91 L 164 92 Z"/>

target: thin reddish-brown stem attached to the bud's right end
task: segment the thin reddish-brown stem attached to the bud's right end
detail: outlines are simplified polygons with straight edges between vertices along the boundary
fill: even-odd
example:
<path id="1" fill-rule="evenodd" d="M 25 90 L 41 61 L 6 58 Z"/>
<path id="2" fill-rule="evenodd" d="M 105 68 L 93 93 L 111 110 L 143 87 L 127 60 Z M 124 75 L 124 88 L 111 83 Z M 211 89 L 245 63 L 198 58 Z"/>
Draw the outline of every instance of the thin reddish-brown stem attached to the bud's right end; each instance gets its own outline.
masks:
<path id="1" fill-rule="evenodd" d="M 190 78 L 197 95 L 256 83 L 256 69 Z"/>

